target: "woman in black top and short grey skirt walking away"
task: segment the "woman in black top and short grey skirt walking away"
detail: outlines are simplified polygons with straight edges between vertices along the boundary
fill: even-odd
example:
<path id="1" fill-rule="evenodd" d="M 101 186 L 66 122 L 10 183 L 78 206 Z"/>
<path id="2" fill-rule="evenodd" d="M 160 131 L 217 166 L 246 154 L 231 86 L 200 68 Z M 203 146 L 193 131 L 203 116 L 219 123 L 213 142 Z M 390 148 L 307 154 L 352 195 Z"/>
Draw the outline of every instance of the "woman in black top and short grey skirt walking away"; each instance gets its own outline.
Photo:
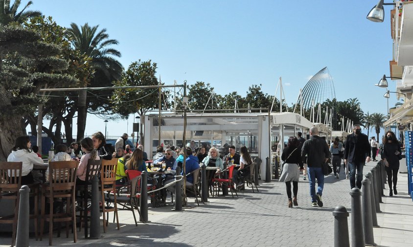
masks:
<path id="1" fill-rule="evenodd" d="M 284 182 L 287 189 L 288 207 L 298 206 L 297 192 L 298 192 L 298 180 L 299 170 L 304 169 L 301 160 L 301 150 L 298 150 L 298 139 L 296 137 L 290 137 L 288 139 L 287 147 L 281 155 L 284 166 L 282 168 L 279 182 Z M 299 166 L 299 169 L 298 169 Z M 294 199 L 291 198 L 291 181 L 293 181 L 293 194 Z"/>

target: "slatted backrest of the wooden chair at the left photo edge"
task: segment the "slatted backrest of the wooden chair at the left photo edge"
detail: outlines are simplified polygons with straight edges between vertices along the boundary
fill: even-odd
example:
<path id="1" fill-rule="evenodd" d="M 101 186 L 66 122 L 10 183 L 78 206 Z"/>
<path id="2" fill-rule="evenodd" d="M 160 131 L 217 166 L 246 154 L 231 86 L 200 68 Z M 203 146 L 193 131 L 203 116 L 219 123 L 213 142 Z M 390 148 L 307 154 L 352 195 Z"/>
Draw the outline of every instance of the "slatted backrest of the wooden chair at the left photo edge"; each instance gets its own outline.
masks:
<path id="1" fill-rule="evenodd" d="M 23 162 L 0 162 L 0 199 L 3 192 L 17 192 L 10 194 L 8 199 L 17 199 L 22 185 Z"/>

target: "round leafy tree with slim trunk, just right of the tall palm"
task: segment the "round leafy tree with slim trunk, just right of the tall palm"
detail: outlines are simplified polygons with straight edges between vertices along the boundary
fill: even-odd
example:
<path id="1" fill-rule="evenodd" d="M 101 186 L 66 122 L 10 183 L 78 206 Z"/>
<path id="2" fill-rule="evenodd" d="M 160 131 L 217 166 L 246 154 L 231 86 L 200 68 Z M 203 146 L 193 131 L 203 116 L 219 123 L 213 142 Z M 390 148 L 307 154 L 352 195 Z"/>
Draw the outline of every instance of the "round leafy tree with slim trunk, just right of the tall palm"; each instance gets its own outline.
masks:
<path id="1" fill-rule="evenodd" d="M 156 86 L 159 85 L 156 78 L 157 64 L 151 60 L 132 62 L 128 69 L 123 73 L 122 79 L 114 82 L 115 86 Z M 168 96 L 168 93 L 163 90 Z M 123 118 L 128 118 L 131 113 L 138 113 L 140 117 L 140 128 L 145 124 L 144 115 L 158 107 L 159 89 L 158 88 L 127 88 L 115 89 L 112 96 L 112 108 L 115 113 Z M 167 102 L 166 102 L 167 103 Z M 143 143 L 142 131 L 139 133 L 141 143 Z"/>

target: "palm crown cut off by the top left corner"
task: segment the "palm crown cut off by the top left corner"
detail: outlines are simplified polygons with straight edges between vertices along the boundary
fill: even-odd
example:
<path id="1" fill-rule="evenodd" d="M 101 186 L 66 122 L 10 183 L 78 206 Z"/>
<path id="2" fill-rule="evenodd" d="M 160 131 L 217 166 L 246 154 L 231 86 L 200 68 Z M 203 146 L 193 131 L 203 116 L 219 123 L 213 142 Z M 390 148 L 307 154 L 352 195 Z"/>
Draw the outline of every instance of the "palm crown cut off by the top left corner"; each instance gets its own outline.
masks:
<path id="1" fill-rule="evenodd" d="M 0 0 L 0 24 L 7 25 L 12 21 L 18 23 L 23 23 L 29 18 L 41 16 L 42 12 L 37 10 L 26 10 L 30 5 L 33 4 L 32 1 L 27 2 L 26 6 L 17 13 L 17 9 L 20 7 L 21 0 L 15 0 L 14 3 L 10 6 L 10 0 Z"/>

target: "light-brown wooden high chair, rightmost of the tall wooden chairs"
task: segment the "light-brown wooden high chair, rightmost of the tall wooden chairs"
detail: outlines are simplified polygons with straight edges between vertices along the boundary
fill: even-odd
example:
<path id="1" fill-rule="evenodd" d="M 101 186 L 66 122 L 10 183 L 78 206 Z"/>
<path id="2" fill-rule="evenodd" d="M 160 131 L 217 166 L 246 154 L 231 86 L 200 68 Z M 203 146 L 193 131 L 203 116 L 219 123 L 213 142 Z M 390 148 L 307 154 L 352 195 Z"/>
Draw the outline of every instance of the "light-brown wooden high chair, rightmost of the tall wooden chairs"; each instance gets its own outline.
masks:
<path id="1" fill-rule="evenodd" d="M 108 226 L 109 212 L 115 212 L 117 229 L 119 230 L 119 218 L 117 215 L 116 206 L 116 193 L 114 193 L 113 207 L 109 207 L 109 202 L 107 201 L 107 206 L 105 206 L 105 194 L 115 191 L 116 187 L 116 167 L 117 159 L 112 158 L 112 160 L 102 160 L 102 169 L 100 171 L 100 187 L 102 192 L 102 213 L 103 213 L 103 232 L 106 232 L 106 227 Z M 105 217 L 105 213 L 107 216 Z"/>

